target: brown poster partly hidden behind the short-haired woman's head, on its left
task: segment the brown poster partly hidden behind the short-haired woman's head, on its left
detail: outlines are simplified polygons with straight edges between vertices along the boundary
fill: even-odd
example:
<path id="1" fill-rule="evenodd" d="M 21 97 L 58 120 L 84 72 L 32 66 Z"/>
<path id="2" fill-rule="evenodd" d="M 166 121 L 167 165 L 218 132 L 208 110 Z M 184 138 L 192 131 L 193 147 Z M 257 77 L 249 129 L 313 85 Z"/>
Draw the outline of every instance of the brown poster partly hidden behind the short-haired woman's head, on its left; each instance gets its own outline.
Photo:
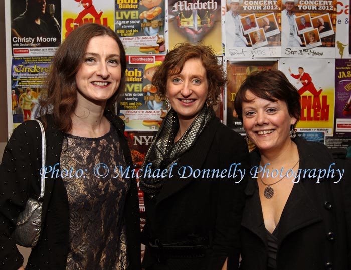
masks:
<path id="1" fill-rule="evenodd" d="M 238 133 L 245 134 L 242 122 L 234 108 L 235 95 L 238 92 L 241 83 L 247 75 L 255 71 L 278 69 L 278 60 L 260 59 L 255 61 L 227 61 L 227 106 L 225 113 L 225 122 L 227 126 Z"/>

